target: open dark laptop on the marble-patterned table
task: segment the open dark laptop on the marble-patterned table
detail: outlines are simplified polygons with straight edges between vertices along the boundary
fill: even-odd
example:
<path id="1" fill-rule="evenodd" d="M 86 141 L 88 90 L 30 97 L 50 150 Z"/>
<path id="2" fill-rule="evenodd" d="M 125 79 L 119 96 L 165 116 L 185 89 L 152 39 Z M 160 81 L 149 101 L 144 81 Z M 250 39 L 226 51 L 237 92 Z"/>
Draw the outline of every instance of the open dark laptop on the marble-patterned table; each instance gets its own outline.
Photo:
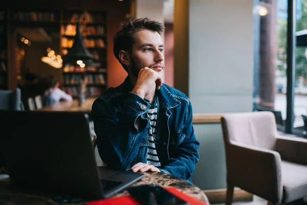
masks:
<path id="1" fill-rule="evenodd" d="M 144 177 L 97 167 L 87 114 L 0 111 L 0 131 L 0 150 L 13 185 L 95 200 Z"/>

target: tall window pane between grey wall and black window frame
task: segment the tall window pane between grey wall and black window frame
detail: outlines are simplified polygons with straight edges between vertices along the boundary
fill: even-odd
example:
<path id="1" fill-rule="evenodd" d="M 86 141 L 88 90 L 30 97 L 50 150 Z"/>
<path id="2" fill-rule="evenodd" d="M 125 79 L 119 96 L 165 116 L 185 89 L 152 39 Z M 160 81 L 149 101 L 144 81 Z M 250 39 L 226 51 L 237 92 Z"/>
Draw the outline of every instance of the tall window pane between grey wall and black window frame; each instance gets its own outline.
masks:
<path id="1" fill-rule="evenodd" d="M 254 110 L 272 111 L 278 130 L 283 131 L 287 117 L 287 8 L 280 7 L 277 0 L 254 1 Z"/>

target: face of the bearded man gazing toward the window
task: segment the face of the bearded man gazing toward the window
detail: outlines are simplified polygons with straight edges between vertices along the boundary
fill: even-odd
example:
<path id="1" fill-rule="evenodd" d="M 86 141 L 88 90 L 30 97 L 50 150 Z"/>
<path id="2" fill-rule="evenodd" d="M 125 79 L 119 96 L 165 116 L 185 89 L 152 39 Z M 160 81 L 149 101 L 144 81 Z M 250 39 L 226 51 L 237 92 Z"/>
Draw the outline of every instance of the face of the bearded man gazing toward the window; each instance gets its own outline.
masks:
<path id="1" fill-rule="evenodd" d="M 149 30 L 138 31 L 130 55 L 131 73 L 138 76 L 139 71 L 148 67 L 164 78 L 164 46 L 158 32 Z"/>

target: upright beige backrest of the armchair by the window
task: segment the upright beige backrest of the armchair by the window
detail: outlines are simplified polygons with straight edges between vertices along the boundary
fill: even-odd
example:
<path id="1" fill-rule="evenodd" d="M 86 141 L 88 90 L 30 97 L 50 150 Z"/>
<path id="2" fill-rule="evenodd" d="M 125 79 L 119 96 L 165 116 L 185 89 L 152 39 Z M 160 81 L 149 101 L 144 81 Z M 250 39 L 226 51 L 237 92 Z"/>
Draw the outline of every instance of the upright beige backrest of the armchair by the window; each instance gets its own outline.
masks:
<path id="1" fill-rule="evenodd" d="M 232 142 L 274 149 L 277 128 L 272 112 L 225 114 L 222 117 L 222 127 L 226 149 Z"/>

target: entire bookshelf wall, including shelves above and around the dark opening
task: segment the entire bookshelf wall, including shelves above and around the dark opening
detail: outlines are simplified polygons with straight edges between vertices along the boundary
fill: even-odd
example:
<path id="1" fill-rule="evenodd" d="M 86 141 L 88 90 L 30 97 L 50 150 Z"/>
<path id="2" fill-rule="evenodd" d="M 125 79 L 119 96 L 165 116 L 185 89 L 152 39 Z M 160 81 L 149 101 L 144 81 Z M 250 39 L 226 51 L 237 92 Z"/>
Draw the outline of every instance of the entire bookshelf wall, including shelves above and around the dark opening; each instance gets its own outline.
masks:
<path id="1" fill-rule="evenodd" d="M 95 66 L 62 68 L 63 90 L 76 97 L 78 78 L 87 79 L 87 96 L 99 96 L 107 88 L 106 56 L 106 12 L 53 9 L 1 9 L 0 8 L 0 89 L 14 89 L 17 79 L 15 28 L 55 28 L 60 33 L 60 55 L 64 56 L 72 47 L 77 20 L 83 36 L 83 44 L 93 54 Z M 89 14 L 89 15 L 87 15 Z M 42 54 L 43 55 L 43 54 Z"/>

